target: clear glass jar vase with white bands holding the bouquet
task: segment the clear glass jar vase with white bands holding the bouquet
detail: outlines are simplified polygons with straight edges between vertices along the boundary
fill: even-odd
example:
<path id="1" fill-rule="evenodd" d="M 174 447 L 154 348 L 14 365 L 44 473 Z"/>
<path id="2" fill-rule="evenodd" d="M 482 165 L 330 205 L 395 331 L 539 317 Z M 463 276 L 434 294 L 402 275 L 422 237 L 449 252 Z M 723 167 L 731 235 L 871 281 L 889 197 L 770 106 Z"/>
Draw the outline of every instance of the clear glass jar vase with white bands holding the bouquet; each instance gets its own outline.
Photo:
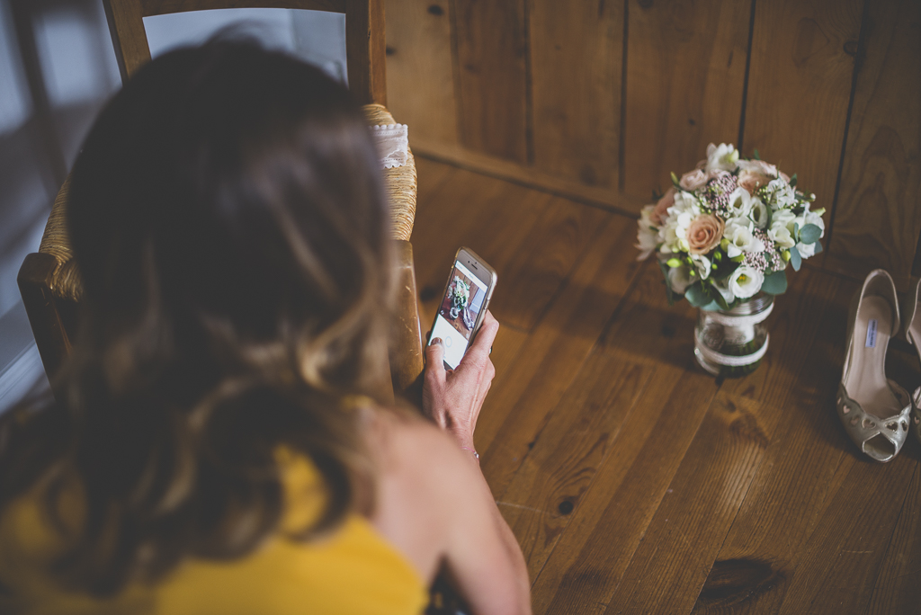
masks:
<path id="1" fill-rule="evenodd" d="M 742 377 L 761 365 L 770 340 L 764 319 L 774 296 L 759 293 L 735 308 L 697 310 L 694 356 L 714 376 Z"/>

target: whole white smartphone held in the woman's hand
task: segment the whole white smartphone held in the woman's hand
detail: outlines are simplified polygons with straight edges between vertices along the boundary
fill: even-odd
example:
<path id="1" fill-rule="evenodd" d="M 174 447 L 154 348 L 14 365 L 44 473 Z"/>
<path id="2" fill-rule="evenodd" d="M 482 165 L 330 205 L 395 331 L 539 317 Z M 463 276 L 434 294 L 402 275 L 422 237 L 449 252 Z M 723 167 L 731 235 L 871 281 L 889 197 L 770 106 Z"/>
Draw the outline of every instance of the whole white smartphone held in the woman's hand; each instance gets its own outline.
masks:
<path id="1" fill-rule="evenodd" d="M 445 284 L 445 293 L 426 343 L 441 338 L 445 369 L 456 369 L 480 329 L 495 289 L 495 269 L 472 249 L 461 248 Z"/>

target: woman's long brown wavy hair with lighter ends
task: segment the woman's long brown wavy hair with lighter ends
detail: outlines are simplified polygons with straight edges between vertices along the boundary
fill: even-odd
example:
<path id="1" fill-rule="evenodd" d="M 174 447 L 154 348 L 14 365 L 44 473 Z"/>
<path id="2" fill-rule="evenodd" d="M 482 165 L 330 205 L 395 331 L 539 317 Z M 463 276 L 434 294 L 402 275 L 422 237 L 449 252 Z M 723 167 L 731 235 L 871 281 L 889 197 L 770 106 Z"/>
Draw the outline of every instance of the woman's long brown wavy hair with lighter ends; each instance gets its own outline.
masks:
<path id="1" fill-rule="evenodd" d="M 343 400 L 388 377 L 382 195 L 348 91 L 249 42 L 169 52 L 100 113 L 68 203 L 85 300 L 64 399 L 0 430 L 0 505 L 40 489 L 65 586 L 109 596 L 251 552 L 284 512 L 279 447 L 325 483 L 304 538 L 363 505 Z"/>

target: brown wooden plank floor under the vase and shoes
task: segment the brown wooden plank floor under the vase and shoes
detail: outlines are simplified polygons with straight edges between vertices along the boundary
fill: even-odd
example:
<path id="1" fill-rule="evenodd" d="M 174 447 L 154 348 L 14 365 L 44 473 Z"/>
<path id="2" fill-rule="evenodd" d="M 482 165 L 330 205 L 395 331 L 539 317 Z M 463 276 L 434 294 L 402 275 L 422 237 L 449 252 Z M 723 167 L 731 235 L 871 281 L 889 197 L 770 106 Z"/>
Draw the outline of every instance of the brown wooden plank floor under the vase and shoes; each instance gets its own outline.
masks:
<path id="1" fill-rule="evenodd" d="M 870 462 L 834 412 L 857 282 L 792 275 L 763 365 L 720 382 L 694 363 L 694 308 L 635 261 L 635 220 L 418 171 L 424 318 L 459 246 L 498 272 L 476 444 L 536 613 L 921 613 L 921 445 Z M 914 389 L 909 351 L 887 370 Z"/>

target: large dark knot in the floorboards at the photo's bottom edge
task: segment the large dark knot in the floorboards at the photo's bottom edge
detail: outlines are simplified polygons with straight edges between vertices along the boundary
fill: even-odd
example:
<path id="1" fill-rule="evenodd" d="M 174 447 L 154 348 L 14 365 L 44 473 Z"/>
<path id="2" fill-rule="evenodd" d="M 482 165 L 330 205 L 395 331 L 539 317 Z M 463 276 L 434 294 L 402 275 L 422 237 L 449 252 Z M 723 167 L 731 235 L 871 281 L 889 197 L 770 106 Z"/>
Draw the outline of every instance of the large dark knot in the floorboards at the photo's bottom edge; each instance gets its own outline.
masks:
<path id="1" fill-rule="evenodd" d="M 714 563 L 694 609 L 740 604 L 774 589 L 785 578 L 786 575 L 779 568 L 759 560 L 724 560 Z"/>

